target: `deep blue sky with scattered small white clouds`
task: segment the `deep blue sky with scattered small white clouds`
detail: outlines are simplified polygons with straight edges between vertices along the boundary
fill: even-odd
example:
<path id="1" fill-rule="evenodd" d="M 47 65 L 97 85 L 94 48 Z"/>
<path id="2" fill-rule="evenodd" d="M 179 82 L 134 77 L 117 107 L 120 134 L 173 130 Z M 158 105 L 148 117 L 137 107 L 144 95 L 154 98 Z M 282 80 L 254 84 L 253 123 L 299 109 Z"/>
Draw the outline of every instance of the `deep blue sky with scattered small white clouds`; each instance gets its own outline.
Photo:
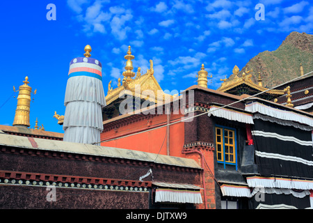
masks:
<path id="1" fill-rule="evenodd" d="M 47 5 L 56 6 L 56 20 L 47 20 Z M 257 3 L 264 20 L 256 20 Z M 163 90 L 181 91 L 196 84 L 204 67 L 213 75 L 210 89 L 243 68 L 253 56 L 279 47 L 291 31 L 313 33 L 309 0 L 259 1 L 110 1 L 49 0 L 1 1 L 0 124 L 12 125 L 16 98 L 13 86 L 37 89 L 31 102 L 31 128 L 63 132 L 54 111 L 65 113 L 64 95 L 70 60 L 93 48 L 102 62 L 104 91 L 116 87 L 131 45 L 134 71 L 149 68 Z"/>

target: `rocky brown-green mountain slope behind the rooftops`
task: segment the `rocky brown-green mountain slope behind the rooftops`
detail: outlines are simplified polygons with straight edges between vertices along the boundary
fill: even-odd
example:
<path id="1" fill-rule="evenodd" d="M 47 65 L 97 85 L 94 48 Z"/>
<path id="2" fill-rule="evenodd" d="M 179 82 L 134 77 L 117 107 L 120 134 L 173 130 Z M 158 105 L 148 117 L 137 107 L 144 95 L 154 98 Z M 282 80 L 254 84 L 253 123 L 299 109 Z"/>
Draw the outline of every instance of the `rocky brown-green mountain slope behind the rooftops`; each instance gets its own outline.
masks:
<path id="1" fill-rule="evenodd" d="M 313 70 L 313 35 L 294 31 L 278 49 L 266 50 L 250 59 L 238 76 L 241 77 L 246 68 L 253 69 L 252 81 L 257 83 L 257 73 L 261 72 L 263 86 L 270 88 L 298 77 L 300 63 L 304 73 Z M 229 79 L 232 78 L 233 75 Z"/>

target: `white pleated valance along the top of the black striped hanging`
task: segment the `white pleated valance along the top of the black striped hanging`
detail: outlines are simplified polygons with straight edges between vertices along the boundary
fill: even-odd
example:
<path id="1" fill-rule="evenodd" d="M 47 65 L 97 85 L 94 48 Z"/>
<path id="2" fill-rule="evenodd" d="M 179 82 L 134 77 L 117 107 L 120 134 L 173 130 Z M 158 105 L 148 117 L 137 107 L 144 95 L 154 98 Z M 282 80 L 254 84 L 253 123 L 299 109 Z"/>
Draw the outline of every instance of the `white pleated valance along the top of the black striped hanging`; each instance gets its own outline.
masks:
<path id="1" fill-rule="evenodd" d="M 246 111 L 252 112 L 252 113 L 259 112 L 261 114 L 265 114 L 267 116 L 271 116 L 274 118 L 279 118 L 279 119 L 287 120 L 287 121 L 296 121 L 298 123 L 303 123 L 305 125 L 313 126 L 313 118 L 310 118 L 302 114 L 298 114 L 296 112 L 285 111 L 282 109 L 269 107 L 259 102 L 252 102 L 246 105 Z"/>

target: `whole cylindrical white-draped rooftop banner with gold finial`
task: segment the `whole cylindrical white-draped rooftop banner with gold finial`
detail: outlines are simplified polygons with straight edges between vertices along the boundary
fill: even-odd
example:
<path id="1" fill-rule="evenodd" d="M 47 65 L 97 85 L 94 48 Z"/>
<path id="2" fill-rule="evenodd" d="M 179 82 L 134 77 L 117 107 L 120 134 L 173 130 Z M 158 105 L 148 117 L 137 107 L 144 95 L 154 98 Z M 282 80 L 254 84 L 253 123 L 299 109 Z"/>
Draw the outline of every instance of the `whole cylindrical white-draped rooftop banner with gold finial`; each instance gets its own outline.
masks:
<path id="1" fill-rule="evenodd" d="M 102 107 L 106 106 L 102 64 L 90 58 L 89 45 L 85 51 L 85 57 L 70 62 L 64 100 L 63 141 L 99 145 L 103 130 Z"/>

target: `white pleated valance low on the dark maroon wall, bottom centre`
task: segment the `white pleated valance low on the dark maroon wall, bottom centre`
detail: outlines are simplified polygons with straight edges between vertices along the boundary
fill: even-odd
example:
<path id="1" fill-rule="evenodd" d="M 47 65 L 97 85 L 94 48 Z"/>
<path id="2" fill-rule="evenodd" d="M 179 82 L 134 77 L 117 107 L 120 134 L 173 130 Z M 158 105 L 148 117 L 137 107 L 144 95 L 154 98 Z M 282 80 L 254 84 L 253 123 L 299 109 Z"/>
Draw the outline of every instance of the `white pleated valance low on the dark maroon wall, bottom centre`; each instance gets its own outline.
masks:
<path id="1" fill-rule="evenodd" d="M 159 188 L 155 192 L 155 202 L 202 203 L 202 197 L 200 191 Z"/>

